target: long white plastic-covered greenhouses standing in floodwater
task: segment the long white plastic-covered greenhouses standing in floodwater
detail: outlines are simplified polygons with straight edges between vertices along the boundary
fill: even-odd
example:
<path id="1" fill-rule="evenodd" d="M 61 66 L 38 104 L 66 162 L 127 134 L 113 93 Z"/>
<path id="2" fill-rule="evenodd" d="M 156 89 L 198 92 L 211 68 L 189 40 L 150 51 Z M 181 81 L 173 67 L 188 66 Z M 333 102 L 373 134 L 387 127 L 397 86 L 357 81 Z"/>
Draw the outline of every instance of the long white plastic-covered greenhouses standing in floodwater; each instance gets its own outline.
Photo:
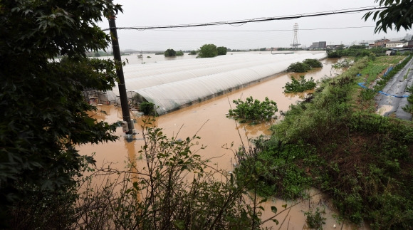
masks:
<path id="1" fill-rule="evenodd" d="M 163 61 L 125 66 L 128 97 L 154 103 L 159 115 L 285 71 L 291 63 L 323 59 L 325 52 L 290 54 L 238 53 L 215 58 Z M 118 98 L 113 88 L 112 100 Z"/>

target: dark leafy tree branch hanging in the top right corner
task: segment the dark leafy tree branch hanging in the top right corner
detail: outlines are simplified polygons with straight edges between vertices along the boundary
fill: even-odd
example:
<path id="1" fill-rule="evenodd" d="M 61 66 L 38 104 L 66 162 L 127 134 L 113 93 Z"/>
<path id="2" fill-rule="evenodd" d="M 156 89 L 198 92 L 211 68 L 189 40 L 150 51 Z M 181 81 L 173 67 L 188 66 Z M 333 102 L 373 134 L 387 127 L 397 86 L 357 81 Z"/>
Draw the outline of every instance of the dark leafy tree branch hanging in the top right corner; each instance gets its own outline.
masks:
<path id="1" fill-rule="evenodd" d="M 372 16 L 373 21 L 376 21 L 375 33 L 384 31 L 387 33 L 387 28 L 390 30 L 404 28 L 406 31 L 412 28 L 413 21 L 413 0 L 375 0 L 380 6 L 387 8 L 382 11 L 370 11 L 363 16 L 365 21 Z"/>

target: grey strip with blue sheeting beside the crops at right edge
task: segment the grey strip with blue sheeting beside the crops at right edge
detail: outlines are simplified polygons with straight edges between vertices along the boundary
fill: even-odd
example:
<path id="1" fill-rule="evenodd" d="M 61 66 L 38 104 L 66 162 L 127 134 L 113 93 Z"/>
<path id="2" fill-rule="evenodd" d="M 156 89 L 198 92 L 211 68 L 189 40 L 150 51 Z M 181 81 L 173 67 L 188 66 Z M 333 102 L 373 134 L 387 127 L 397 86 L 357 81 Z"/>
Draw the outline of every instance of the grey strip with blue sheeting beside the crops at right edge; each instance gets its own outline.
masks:
<path id="1" fill-rule="evenodd" d="M 377 111 L 385 116 L 395 115 L 402 120 L 412 120 L 412 114 L 405 112 L 402 108 L 407 102 L 407 87 L 413 84 L 413 58 L 399 71 L 383 88 L 383 93 L 377 94 Z"/>

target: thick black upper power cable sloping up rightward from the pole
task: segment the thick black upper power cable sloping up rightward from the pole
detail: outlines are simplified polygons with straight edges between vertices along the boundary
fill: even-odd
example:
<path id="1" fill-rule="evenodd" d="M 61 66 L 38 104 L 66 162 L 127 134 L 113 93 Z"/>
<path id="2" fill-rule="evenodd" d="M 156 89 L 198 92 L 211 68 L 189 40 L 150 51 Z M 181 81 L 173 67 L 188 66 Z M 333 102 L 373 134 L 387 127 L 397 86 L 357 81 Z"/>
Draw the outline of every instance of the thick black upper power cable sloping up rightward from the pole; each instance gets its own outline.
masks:
<path id="1" fill-rule="evenodd" d="M 230 25 L 230 26 L 242 26 L 245 23 L 250 22 L 263 22 L 263 21 L 277 21 L 277 20 L 292 20 L 300 19 L 314 16 L 327 16 L 332 14 L 354 14 L 362 11 L 374 11 L 379 9 L 387 9 L 386 6 L 366 6 L 353 9 L 342 9 L 335 11 L 323 11 L 318 13 L 310 14 L 296 14 L 291 16 L 275 16 L 271 18 L 258 18 L 258 19 L 244 19 L 237 21 L 216 21 L 210 23 L 194 23 L 194 24 L 181 24 L 181 25 L 170 25 L 170 26 L 132 26 L 132 27 L 117 27 L 117 29 L 127 29 L 127 30 L 140 30 L 144 31 L 147 29 L 156 29 L 156 28 L 187 28 L 187 27 L 199 27 L 199 26 L 220 26 L 220 25 Z M 108 31 L 110 28 L 105 28 L 103 31 Z"/>

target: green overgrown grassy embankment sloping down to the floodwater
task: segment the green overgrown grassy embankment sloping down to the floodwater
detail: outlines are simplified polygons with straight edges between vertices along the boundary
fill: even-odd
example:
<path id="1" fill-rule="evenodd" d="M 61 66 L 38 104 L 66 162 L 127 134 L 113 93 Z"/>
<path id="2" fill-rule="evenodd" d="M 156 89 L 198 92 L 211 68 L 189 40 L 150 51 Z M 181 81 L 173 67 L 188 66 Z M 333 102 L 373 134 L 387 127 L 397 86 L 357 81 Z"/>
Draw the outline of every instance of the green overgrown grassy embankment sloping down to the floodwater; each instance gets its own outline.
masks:
<path id="1" fill-rule="evenodd" d="M 412 123 L 375 113 L 375 91 L 387 80 L 379 80 L 375 90 L 357 85 L 372 87 L 402 58 L 360 58 L 342 75 L 323 80 L 310 103 L 291 105 L 269 139 L 254 140 L 258 153 L 249 160 L 261 194 L 296 199 L 315 187 L 341 219 L 366 221 L 373 229 L 411 228 Z"/>

